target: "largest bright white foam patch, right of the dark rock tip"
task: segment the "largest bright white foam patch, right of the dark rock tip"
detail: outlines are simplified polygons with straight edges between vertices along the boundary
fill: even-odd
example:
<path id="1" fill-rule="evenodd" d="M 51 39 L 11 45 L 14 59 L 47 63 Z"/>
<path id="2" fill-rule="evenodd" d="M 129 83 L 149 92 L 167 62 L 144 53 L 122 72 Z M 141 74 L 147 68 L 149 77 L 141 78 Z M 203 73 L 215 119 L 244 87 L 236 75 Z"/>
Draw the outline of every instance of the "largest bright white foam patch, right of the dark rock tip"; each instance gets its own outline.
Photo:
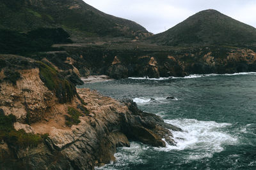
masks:
<path id="1" fill-rule="evenodd" d="M 223 128 L 231 125 L 212 121 L 198 121 L 195 119 L 165 120 L 166 123 L 176 125 L 183 129 L 183 132 L 173 131 L 173 138 L 177 146 L 157 148 L 168 152 L 170 150 L 192 150 L 188 159 L 202 159 L 212 157 L 213 153 L 224 150 L 224 145 L 236 145 L 238 140 L 223 131 Z"/>

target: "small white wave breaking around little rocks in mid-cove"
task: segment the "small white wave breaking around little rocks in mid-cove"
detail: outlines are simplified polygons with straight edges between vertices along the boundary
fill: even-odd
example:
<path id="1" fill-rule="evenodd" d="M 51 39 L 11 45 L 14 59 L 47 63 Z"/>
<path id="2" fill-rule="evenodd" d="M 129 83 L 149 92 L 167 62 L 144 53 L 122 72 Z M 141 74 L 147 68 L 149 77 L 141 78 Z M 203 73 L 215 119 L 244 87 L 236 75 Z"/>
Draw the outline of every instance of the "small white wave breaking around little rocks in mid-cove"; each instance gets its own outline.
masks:
<path id="1" fill-rule="evenodd" d="M 178 101 L 176 97 L 173 97 L 172 99 L 166 99 L 167 97 L 156 97 L 156 98 L 150 98 L 150 97 L 136 97 L 132 99 L 136 104 L 149 104 L 149 103 L 168 103 L 168 101 Z"/>

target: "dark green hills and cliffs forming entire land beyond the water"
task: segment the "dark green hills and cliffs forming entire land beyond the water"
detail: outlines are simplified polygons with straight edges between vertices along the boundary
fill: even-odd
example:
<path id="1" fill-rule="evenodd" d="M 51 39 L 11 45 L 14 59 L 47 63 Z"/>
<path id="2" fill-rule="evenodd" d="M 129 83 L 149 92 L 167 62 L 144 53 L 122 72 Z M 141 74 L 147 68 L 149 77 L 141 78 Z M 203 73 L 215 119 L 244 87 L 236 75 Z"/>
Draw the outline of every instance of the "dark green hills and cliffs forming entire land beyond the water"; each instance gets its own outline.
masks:
<path id="1" fill-rule="evenodd" d="M 156 36 L 81 0 L 3 0 L 0 13 L 0 53 L 46 59 L 76 85 L 79 76 L 100 74 L 119 79 L 256 71 L 255 28 L 215 10 Z M 152 43 L 133 41 L 136 36 L 150 36 Z"/>

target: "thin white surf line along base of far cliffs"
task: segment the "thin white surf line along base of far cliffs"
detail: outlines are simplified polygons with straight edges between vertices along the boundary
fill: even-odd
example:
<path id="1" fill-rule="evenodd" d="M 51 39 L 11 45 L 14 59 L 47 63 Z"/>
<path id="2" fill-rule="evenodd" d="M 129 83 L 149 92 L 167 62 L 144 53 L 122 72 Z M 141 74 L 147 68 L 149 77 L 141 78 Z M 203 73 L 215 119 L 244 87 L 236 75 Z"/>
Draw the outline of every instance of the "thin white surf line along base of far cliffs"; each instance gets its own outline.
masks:
<path id="1" fill-rule="evenodd" d="M 256 75 L 256 72 L 242 72 L 242 73 L 232 73 L 232 74 L 191 74 L 184 77 L 161 77 L 161 78 L 148 78 L 148 77 L 129 77 L 132 80 L 170 80 L 170 79 L 188 79 L 188 78 L 202 78 L 202 77 L 212 77 L 212 76 L 238 76 L 238 75 Z"/>

